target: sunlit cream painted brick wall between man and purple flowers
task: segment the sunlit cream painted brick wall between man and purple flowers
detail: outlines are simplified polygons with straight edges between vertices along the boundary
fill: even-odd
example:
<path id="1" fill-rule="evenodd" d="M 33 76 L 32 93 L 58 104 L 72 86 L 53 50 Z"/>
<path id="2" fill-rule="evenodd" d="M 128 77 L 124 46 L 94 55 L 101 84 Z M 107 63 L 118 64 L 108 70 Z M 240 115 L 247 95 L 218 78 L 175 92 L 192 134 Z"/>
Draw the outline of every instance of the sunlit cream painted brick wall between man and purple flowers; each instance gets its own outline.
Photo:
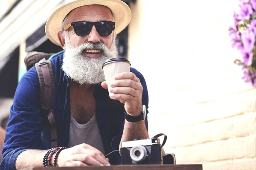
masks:
<path id="1" fill-rule="evenodd" d="M 256 91 L 233 60 L 238 0 L 137 0 L 129 54 L 149 91 L 149 133 L 166 133 L 177 164 L 256 170 Z"/>

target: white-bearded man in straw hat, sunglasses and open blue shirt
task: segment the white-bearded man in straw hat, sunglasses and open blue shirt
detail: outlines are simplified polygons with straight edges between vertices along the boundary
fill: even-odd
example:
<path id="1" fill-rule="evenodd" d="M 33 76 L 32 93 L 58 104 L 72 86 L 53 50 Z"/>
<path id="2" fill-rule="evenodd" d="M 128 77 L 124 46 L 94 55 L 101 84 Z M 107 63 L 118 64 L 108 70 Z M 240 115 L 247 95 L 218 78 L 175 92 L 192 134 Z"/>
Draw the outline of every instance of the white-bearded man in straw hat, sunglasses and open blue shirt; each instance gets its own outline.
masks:
<path id="1" fill-rule="evenodd" d="M 142 105 L 148 108 L 143 75 L 134 68 L 116 75 L 111 92 L 119 100 L 112 100 L 102 70 L 106 59 L 117 57 L 116 34 L 130 19 L 130 8 L 121 0 L 76 0 L 50 16 L 46 34 L 65 50 L 51 60 L 61 150 L 49 151 L 49 128 L 40 114 L 39 80 L 33 67 L 17 86 L 0 169 L 42 167 L 50 152 L 54 154 L 48 165 L 59 167 L 119 164 L 119 154 L 109 159 L 105 155 L 119 150 L 124 141 L 148 138 L 147 119 L 126 117 L 137 118 Z"/>

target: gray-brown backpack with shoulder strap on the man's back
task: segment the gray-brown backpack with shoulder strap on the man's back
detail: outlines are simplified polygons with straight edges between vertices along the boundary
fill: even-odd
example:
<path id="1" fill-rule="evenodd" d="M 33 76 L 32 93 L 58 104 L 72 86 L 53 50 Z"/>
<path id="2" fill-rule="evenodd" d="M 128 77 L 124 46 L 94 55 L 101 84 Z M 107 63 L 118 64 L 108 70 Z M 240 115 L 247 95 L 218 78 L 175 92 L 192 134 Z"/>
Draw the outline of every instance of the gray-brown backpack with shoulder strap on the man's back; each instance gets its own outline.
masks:
<path id="1" fill-rule="evenodd" d="M 55 77 L 52 69 L 51 58 L 63 53 L 49 54 L 37 51 L 31 51 L 24 59 L 26 71 L 35 66 L 40 84 L 40 113 L 47 116 L 51 131 L 51 147 L 57 147 L 57 131 L 53 106 L 55 101 Z M 20 74 L 19 77 L 22 75 Z M 20 78 L 19 78 L 20 79 Z"/>

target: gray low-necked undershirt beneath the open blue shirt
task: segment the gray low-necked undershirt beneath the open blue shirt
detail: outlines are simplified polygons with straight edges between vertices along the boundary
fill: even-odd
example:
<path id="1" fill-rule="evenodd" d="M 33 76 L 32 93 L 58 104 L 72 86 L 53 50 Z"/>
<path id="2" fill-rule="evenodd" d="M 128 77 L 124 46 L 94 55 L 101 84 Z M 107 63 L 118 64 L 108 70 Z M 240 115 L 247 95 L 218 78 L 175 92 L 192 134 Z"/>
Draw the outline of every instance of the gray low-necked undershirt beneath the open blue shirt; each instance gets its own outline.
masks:
<path id="1" fill-rule="evenodd" d="M 105 155 L 95 114 L 92 119 L 84 125 L 77 123 L 76 120 L 70 116 L 70 136 L 67 147 L 73 147 L 82 143 L 95 147 Z"/>

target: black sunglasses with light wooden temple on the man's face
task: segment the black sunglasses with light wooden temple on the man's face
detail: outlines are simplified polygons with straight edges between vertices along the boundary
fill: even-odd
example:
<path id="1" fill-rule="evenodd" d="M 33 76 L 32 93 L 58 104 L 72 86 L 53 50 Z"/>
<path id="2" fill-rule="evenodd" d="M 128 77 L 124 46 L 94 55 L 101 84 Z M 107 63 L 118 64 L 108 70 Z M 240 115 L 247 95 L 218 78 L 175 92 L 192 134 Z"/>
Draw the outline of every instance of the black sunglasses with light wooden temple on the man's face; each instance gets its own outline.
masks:
<path id="1" fill-rule="evenodd" d="M 71 26 L 74 27 L 76 35 L 84 37 L 90 34 L 93 26 L 95 26 L 97 32 L 101 36 L 109 36 L 113 30 L 115 30 L 115 23 L 112 21 L 99 21 L 99 22 L 89 22 L 89 21 L 77 21 L 64 27 L 66 31 Z"/>

